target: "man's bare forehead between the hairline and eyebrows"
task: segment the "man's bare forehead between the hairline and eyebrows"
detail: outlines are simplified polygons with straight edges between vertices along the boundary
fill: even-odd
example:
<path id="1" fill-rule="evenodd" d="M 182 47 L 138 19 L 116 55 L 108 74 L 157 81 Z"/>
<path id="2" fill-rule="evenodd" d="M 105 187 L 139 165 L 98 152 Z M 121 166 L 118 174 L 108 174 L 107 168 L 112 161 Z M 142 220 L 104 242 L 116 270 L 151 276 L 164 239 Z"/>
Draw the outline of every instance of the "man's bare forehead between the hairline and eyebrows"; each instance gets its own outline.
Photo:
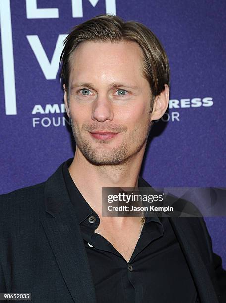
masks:
<path id="1" fill-rule="evenodd" d="M 135 42 L 85 41 L 71 55 L 69 82 L 75 78 L 81 81 L 127 78 L 139 82 L 143 78 L 142 62 L 142 50 Z"/>

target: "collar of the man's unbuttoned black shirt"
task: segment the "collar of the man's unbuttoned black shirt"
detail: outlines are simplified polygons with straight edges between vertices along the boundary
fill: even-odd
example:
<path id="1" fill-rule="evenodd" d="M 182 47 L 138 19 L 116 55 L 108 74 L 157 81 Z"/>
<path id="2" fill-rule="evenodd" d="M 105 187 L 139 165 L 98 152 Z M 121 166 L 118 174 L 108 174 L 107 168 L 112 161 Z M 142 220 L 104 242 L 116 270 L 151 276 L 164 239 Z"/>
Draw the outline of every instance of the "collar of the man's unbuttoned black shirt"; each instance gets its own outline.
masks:
<path id="1" fill-rule="evenodd" d="M 95 211 L 90 207 L 90 205 L 86 202 L 80 191 L 78 190 L 77 186 L 75 185 L 74 181 L 71 178 L 71 175 L 69 173 L 69 166 L 71 165 L 73 161 L 73 158 L 68 159 L 66 162 L 64 162 L 62 166 L 63 170 L 63 177 L 66 184 L 66 188 L 70 197 L 70 200 L 72 204 L 76 208 L 76 214 L 79 224 L 81 224 L 87 217 L 89 217 L 91 214 L 97 214 Z M 139 176 L 138 179 L 138 187 L 151 187 L 141 176 Z M 162 225 L 161 218 L 157 216 L 153 217 L 146 217 L 146 222 L 154 221 Z"/>

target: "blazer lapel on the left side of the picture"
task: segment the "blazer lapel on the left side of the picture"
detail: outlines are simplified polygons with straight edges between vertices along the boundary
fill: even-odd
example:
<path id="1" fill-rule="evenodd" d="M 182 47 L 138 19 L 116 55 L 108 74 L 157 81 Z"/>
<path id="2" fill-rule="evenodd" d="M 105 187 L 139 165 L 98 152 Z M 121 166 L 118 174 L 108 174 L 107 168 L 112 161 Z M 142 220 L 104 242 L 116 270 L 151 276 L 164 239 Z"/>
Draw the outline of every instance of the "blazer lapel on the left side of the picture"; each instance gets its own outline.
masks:
<path id="1" fill-rule="evenodd" d="M 62 174 L 62 165 L 46 181 L 42 222 L 56 262 L 74 302 L 96 302 L 87 253 Z"/>

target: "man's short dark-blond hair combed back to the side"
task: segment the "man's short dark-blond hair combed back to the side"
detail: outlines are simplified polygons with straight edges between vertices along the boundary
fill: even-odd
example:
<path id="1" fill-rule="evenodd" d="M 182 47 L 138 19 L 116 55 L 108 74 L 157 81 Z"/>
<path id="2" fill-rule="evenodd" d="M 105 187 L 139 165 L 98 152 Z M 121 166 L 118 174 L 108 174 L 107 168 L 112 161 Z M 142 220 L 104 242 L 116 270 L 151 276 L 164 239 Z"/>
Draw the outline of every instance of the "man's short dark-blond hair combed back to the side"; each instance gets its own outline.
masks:
<path id="1" fill-rule="evenodd" d="M 70 57 L 80 42 L 136 42 L 143 52 L 143 76 L 149 82 L 152 97 L 158 96 L 169 86 L 169 62 L 164 48 L 153 32 L 142 23 L 125 22 L 112 14 L 101 14 L 76 25 L 64 40 L 60 56 L 61 78 L 68 88 Z"/>

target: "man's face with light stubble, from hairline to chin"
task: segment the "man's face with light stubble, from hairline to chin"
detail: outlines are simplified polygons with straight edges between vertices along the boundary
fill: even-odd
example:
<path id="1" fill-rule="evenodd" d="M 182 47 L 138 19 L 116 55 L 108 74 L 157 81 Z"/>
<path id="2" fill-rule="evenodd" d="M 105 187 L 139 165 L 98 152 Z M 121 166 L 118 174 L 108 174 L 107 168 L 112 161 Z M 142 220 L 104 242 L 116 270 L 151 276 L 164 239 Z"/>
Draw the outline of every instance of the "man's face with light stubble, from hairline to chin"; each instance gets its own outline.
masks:
<path id="1" fill-rule="evenodd" d="M 70 59 L 67 114 L 76 149 L 94 165 L 118 165 L 144 151 L 151 93 L 134 42 L 83 42 Z"/>

